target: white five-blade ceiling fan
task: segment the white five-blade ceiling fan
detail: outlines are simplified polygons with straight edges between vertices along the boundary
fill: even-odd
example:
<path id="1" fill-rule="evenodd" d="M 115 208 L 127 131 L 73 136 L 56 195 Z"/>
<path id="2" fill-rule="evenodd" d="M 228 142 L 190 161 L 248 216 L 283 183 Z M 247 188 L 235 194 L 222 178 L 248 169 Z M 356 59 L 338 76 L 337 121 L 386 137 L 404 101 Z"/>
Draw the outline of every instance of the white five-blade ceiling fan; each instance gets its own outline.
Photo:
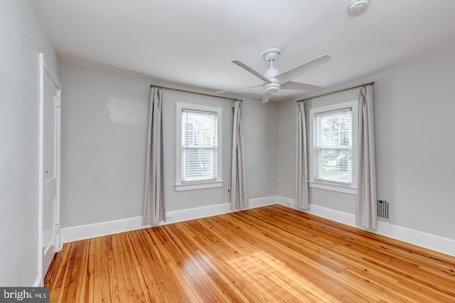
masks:
<path id="1" fill-rule="evenodd" d="M 279 70 L 274 68 L 273 62 L 277 60 L 279 55 L 281 55 L 282 53 L 283 51 L 281 48 L 267 48 L 267 50 L 264 50 L 261 53 L 262 57 L 264 57 L 265 60 L 270 62 L 270 67 L 268 70 L 264 72 L 264 75 L 252 69 L 251 67 L 249 67 L 248 65 L 239 60 L 233 60 L 232 63 L 242 67 L 247 72 L 252 73 L 256 77 L 264 81 L 264 83 L 252 87 L 242 87 L 237 89 L 250 89 L 253 87 L 263 86 L 264 97 L 262 98 L 262 103 L 268 102 L 272 94 L 279 92 L 279 89 L 296 89 L 316 92 L 321 91 L 323 89 L 323 87 L 318 87 L 316 85 L 293 82 L 291 81 L 291 79 L 294 79 L 295 77 L 298 77 L 299 75 L 304 74 L 305 72 L 308 72 L 309 70 L 312 70 L 315 67 L 318 67 L 319 65 L 322 65 L 323 63 L 332 60 L 332 57 L 330 55 L 323 55 L 321 57 L 317 57 L 316 59 L 310 60 L 301 65 L 297 65 L 296 67 L 293 67 L 290 70 L 287 70 L 286 72 L 280 73 Z M 226 89 L 218 93 L 230 92 L 237 89 Z"/>

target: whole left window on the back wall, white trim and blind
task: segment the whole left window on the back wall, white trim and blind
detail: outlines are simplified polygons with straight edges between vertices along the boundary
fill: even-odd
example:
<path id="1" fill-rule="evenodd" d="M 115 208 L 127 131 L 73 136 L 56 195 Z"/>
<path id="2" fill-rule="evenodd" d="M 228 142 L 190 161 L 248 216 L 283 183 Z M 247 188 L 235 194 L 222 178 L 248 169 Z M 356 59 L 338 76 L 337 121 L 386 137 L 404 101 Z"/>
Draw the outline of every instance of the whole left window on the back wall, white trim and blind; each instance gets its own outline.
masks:
<path id="1" fill-rule="evenodd" d="M 221 186 L 221 109 L 177 103 L 176 190 Z"/>

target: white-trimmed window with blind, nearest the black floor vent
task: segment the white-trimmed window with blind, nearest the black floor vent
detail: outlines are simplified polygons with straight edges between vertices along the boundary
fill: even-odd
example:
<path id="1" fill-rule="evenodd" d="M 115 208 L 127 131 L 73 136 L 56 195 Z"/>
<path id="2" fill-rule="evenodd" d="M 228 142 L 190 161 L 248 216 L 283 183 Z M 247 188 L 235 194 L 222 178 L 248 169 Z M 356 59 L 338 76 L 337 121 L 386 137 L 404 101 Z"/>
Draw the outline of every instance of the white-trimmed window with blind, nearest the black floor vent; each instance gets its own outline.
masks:
<path id="1" fill-rule="evenodd" d="M 310 109 L 311 187 L 355 194 L 358 101 Z"/>

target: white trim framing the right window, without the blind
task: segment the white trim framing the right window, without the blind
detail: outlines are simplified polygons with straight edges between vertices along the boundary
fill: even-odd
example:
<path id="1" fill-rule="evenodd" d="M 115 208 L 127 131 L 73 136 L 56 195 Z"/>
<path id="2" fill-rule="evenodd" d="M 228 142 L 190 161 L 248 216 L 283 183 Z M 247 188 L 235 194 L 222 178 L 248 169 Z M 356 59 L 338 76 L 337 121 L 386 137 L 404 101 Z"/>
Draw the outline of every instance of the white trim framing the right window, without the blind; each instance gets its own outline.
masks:
<path id="1" fill-rule="evenodd" d="M 326 111 L 336 111 L 350 108 L 353 114 L 352 126 L 352 184 L 350 186 L 336 182 L 324 182 L 314 180 L 314 116 Z M 309 187 L 331 190 L 333 192 L 344 192 L 346 194 L 357 194 L 358 180 L 358 100 L 345 101 L 328 106 L 315 107 L 309 110 Z"/>

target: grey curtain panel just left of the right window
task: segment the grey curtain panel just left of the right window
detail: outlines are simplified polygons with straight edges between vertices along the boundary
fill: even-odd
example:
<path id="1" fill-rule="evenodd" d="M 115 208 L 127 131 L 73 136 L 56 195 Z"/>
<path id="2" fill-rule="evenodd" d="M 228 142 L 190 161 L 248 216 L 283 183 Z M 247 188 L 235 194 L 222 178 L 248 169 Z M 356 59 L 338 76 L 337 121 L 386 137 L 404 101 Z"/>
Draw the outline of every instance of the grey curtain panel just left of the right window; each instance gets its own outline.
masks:
<path id="1" fill-rule="evenodd" d="M 310 208 L 308 194 L 308 169 L 306 162 L 306 127 L 304 102 L 297 103 L 295 206 L 297 209 Z"/>

